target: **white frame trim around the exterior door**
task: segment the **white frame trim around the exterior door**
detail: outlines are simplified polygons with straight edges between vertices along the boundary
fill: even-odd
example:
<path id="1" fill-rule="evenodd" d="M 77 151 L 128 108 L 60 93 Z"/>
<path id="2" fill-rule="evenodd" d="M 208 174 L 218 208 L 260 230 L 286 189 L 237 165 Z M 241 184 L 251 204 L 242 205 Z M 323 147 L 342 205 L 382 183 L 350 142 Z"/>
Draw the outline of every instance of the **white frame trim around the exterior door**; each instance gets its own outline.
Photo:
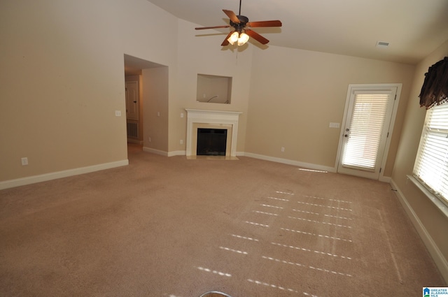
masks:
<path id="1" fill-rule="evenodd" d="M 386 139 L 386 145 L 384 146 L 384 154 L 383 159 L 381 161 L 381 171 L 379 172 L 378 180 L 381 182 L 391 182 L 391 177 L 385 177 L 384 176 L 384 169 L 386 168 L 386 162 L 388 158 L 388 152 L 391 145 L 391 139 L 393 134 L 393 126 L 395 125 L 395 119 L 398 111 L 398 105 L 400 103 L 400 95 L 401 95 L 401 89 L 402 84 L 401 83 L 388 83 L 388 84 L 349 84 L 349 87 L 347 89 L 346 99 L 345 99 L 345 107 L 344 107 L 344 116 L 342 117 L 342 124 L 341 124 L 341 131 L 339 131 L 339 144 L 337 146 L 337 155 L 335 160 L 335 171 L 337 172 L 337 167 L 339 166 L 339 161 L 341 157 L 341 151 L 342 151 L 342 141 L 344 140 L 344 126 L 347 119 L 347 114 L 349 112 L 349 104 L 350 104 L 350 97 L 351 92 L 353 92 L 354 88 L 381 88 L 381 87 L 396 87 L 397 92 L 395 94 L 395 103 L 393 104 L 393 110 L 391 115 L 391 122 L 389 124 L 388 128 L 388 137 Z M 353 170 L 354 171 L 354 170 Z M 363 175 L 363 171 L 359 171 L 356 176 L 365 177 Z"/>

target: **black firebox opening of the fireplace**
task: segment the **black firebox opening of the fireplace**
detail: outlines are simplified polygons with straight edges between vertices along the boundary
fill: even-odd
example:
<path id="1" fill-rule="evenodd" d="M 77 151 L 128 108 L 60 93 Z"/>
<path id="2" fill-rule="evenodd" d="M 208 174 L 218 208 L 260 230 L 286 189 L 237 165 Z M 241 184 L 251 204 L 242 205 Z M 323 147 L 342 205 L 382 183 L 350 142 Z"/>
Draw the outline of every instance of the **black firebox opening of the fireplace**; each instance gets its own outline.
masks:
<path id="1" fill-rule="evenodd" d="M 198 156 L 225 156 L 227 129 L 197 129 Z"/>

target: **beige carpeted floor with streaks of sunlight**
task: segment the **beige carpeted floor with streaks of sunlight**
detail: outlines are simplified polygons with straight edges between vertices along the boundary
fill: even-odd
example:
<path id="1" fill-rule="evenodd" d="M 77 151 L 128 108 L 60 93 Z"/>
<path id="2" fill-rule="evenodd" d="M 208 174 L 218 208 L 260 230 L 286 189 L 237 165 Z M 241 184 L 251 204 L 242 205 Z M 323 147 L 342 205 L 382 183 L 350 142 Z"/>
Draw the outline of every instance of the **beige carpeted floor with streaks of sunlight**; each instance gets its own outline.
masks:
<path id="1" fill-rule="evenodd" d="M 389 184 L 141 152 L 0 191 L 0 296 L 421 296 L 447 284 Z"/>

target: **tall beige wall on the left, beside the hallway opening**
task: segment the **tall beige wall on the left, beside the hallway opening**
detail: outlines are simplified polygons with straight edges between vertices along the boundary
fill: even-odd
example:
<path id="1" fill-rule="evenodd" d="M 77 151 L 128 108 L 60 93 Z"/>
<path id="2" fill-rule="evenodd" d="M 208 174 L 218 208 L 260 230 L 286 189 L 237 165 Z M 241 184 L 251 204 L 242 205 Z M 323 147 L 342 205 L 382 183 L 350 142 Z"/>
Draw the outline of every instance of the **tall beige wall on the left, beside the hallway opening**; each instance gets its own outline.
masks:
<path id="1" fill-rule="evenodd" d="M 176 17 L 146 0 L 5 0 L 0 28 L 0 182 L 125 164 L 123 54 L 176 64 Z"/>

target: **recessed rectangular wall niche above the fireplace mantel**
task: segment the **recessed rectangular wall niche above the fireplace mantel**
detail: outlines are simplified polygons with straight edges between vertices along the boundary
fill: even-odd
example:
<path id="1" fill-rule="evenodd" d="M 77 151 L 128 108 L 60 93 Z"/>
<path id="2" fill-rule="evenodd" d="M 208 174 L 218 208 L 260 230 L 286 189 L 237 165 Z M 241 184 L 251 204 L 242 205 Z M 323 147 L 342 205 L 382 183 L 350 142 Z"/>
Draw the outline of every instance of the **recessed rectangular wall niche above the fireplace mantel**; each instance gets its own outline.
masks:
<path id="1" fill-rule="evenodd" d="M 198 74 L 197 102 L 230 104 L 232 78 L 228 76 Z"/>

